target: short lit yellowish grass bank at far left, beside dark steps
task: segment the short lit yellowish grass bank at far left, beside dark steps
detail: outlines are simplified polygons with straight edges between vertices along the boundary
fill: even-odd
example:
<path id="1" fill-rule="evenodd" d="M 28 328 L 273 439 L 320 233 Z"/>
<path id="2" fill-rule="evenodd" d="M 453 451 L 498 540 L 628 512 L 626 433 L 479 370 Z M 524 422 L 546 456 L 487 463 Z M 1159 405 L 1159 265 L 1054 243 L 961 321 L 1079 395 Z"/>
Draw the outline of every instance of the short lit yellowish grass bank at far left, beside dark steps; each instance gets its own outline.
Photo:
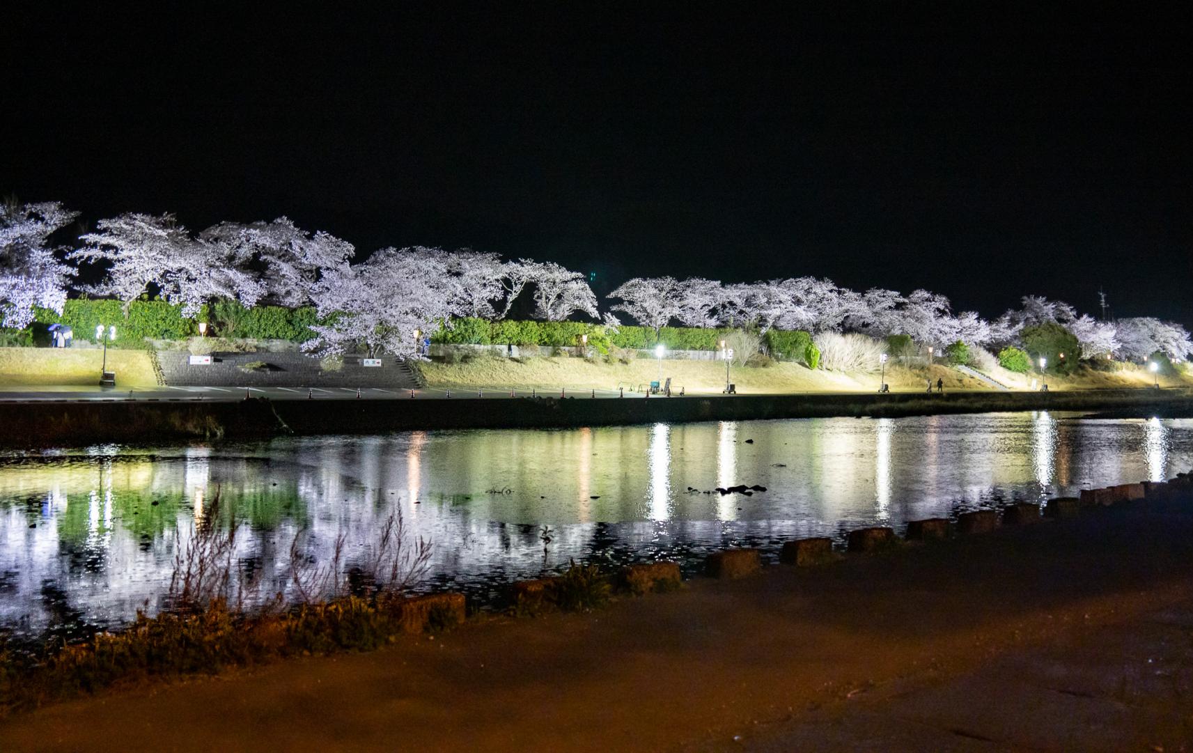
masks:
<path id="1" fill-rule="evenodd" d="M 0 387 L 99 387 L 100 348 L 0 347 Z M 157 384 L 146 351 L 107 348 L 107 370 L 125 388 Z"/>

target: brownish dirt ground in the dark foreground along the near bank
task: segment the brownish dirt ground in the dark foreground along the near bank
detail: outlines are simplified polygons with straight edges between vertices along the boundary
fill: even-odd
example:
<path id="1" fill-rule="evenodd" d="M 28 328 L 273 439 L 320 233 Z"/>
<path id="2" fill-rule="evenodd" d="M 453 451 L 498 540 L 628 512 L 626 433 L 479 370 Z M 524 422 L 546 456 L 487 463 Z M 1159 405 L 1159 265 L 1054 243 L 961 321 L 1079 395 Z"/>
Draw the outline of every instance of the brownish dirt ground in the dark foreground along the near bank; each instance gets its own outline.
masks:
<path id="1" fill-rule="evenodd" d="M 1187 507 L 1099 510 L 115 691 L 0 749 L 1193 749 L 1191 555 Z"/>

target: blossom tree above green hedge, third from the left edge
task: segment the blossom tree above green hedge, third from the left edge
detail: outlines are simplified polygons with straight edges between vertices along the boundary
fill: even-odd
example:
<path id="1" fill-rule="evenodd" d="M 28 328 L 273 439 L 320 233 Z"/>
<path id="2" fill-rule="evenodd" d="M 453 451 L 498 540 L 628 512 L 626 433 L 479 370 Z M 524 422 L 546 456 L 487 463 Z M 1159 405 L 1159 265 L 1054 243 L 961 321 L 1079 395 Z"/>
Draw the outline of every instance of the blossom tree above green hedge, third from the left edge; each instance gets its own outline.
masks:
<path id="1" fill-rule="evenodd" d="M 225 257 L 255 280 L 261 298 L 291 308 L 308 304 L 311 286 L 324 272 L 345 267 L 356 253 L 352 243 L 322 230 L 301 230 L 286 217 L 222 222 L 200 233 L 199 241 L 214 246 L 212 257 Z"/>

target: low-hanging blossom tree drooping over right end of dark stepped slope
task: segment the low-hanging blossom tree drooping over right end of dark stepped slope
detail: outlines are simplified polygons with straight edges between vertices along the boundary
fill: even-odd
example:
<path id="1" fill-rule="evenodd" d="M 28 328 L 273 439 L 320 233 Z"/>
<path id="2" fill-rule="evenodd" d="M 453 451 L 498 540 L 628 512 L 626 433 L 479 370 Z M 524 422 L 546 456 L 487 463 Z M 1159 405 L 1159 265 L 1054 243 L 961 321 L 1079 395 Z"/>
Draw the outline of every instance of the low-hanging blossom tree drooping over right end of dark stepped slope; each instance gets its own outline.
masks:
<path id="1" fill-rule="evenodd" d="M 338 356 L 360 350 L 419 358 L 418 337 L 464 313 L 449 260 L 438 249 L 382 248 L 365 261 L 332 270 L 311 298 L 326 323 L 303 350 Z"/>

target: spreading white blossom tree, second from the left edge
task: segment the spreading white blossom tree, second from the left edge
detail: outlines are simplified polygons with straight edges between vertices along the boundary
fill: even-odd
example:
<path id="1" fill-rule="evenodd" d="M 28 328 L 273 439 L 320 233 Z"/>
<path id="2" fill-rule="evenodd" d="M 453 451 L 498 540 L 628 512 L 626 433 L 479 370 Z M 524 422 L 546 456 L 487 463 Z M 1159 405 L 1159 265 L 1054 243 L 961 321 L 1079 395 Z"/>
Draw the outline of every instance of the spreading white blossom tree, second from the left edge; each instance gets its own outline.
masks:
<path id="1" fill-rule="evenodd" d="M 261 297 L 261 284 L 231 264 L 227 247 L 192 239 L 173 215 L 130 212 L 95 227 L 69 258 L 107 263 L 107 276 L 92 290 L 123 301 L 125 314 L 150 285 L 165 301 L 180 304 L 184 316 L 194 316 L 214 298 L 253 305 Z"/>

